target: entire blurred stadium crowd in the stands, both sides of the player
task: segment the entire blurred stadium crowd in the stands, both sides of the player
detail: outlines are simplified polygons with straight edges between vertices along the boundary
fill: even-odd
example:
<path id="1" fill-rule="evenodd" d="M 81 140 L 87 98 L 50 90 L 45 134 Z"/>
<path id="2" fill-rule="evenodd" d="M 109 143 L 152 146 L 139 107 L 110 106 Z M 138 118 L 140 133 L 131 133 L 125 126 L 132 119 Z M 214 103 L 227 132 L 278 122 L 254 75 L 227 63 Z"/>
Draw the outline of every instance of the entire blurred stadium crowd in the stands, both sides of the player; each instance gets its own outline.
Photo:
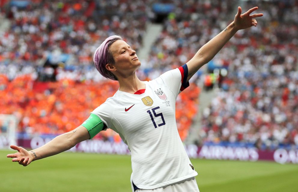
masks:
<path id="1" fill-rule="evenodd" d="M 18 97 L 5 100 L 11 106 L 1 99 L 0 106 L 7 107 L 5 113 L 20 110 L 20 131 L 61 133 L 79 125 L 86 114 L 117 89 L 114 82 L 103 82 L 104 78 L 94 70 L 94 50 L 105 37 L 115 33 L 139 49 L 145 22 L 154 15 L 151 5 L 155 1 L 32 2 L 25 9 L 11 7 L 7 14 L 12 25 L 0 39 L 0 88 L 8 100 L 13 100 L 10 91 L 16 91 Z M 164 20 L 163 32 L 148 60 L 142 62 L 138 71 L 142 80 L 156 78 L 192 58 L 230 23 L 237 4 L 235 0 L 165 2 L 174 4 L 175 9 Z M 298 2 L 276 2 L 262 1 L 259 11 L 264 16 L 258 20 L 258 27 L 237 32 L 212 60 L 226 68 L 228 76 L 220 81 L 217 97 L 204 110 L 199 143 L 247 142 L 260 149 L 298 146 Z M 258 6 L 258 1 L 243 4 L 246 6 L 242 9 L 246 10 Z M 57 82 L 49 83 L 47 91 L 35 93 L 32 88 L 42 85 L 34 80 L 47 70 L 41 65 L 46 58 L 54 62 L 59 62 L 54 58 L 65 60 L 65 66 L 49 70 L 48 73 L 56 73 Z M 197 82 L 202 73 L 200 70 L 192 82 Z M 103 88 L 97 90 L 94 86 Z M 101 96 L 103 92 L 107 95 Z M 179 95 L 176 118 L 182 140 L 196 114 L 198 95 L 195 84 Z M 73 106 L 73 101 L 80 104 Z M 25 107 L 20 108 L 22 105 Z M 38 112 L 36 105 L 42 107 Z M 187 110 L 183 110 L 185 106 Z M 30 113 L 35 116 L 29 117 Z M 61 113 L 67 118 L 55 120 Z M 98 137 L 119 140 L 109 131 Z"/>

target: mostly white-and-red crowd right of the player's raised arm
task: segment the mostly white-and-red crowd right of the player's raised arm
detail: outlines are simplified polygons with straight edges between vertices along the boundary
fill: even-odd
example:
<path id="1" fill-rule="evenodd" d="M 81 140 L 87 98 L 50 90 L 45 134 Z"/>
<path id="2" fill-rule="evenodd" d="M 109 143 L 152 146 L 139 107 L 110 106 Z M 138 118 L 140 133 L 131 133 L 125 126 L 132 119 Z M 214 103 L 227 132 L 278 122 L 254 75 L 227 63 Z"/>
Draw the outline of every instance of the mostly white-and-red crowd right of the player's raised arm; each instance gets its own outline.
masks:
<path id="1" fill-rule="evenodd" d="M 264 2 L 260 11 L 259 26 L 238 32 L 214 58 L 228 76 L 204 110 L 202 142 L 298 146 L 298 1 Z"/>

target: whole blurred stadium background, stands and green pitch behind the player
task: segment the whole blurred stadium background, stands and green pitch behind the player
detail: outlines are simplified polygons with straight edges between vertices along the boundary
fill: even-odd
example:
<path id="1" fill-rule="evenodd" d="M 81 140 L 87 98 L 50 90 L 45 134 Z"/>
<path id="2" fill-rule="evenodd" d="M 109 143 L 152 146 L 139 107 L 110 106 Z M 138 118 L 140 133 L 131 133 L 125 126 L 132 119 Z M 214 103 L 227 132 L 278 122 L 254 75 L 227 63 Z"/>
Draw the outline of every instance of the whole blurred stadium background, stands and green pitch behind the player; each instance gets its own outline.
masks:
<path id="1" fill-rule="evenodd" d="M 237 32 L 179 95 L 178 131 L 190 158 L 199 158 L 192 162 L 201 191 L 298 191 L 298 1 L 32 0 L 0 6 L 0 109 L 17 122 L 17 142 L 26 148 L 81 125 L 117 90 L 92 63 L 109 35 L 120 34 L 137 51 L 138 76 L 150 80 L 187 62 L 233 20 L 237 6 L 258 6 L 264 13 L 258 26 Z M 5 118 L 1 148 L 10 144 L 12 125 Z M 113 131 L 71 151 L 118 155 L 65 153 L 23 168 L 3 151 L 0 190 L 129 191 L 129 152 Z"/>

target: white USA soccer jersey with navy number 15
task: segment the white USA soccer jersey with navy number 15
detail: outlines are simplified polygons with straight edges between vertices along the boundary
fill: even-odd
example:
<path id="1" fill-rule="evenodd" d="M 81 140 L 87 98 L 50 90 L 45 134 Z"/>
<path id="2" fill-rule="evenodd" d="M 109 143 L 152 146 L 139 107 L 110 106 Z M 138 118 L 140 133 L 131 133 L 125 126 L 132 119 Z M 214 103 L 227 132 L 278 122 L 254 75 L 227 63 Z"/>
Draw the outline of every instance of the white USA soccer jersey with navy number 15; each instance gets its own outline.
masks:
<path id="1" fill-rule="evenodd" d="M 132 190 L 155 189 L 197 175 L 179 137 L 176 98 L 189 84 L 187 65 L 145 82 L 138 94 L 117 91 L 92 113 L 116 131 L 131 152 Z"/>

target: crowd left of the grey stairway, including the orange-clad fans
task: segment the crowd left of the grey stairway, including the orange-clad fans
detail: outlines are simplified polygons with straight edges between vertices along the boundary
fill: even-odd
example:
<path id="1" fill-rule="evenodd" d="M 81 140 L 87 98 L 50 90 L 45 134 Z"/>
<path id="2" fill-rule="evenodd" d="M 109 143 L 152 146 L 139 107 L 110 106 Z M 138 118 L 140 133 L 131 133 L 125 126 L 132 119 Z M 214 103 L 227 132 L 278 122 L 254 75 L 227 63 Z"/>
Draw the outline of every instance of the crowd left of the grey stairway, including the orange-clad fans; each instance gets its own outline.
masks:
<path id="1" fill-rule="evenodd" d="M 94 50 L 114 34 L 138 50 L 150 11 L 145 1 L 31 1 L 26 7 L 9 7 L 11 27 L 0 40 L 2 113 L 17 116 L 18 131 L 26 134 L 61 134 L 80 125 L 117 91 L 117 83 L 92 66 Z M 44 65 L 47 60 L 55 69 Z M 149 80 L 142 70 L 138 73 Z M 41 74 L 54 74 L 56 81 L 38 82 Z M 176 116 L 182 140 L 196 114 L 198 95 L 194 84 L 179 95 Z M 111 130 L 97 137 L 120 141 Z"/>

